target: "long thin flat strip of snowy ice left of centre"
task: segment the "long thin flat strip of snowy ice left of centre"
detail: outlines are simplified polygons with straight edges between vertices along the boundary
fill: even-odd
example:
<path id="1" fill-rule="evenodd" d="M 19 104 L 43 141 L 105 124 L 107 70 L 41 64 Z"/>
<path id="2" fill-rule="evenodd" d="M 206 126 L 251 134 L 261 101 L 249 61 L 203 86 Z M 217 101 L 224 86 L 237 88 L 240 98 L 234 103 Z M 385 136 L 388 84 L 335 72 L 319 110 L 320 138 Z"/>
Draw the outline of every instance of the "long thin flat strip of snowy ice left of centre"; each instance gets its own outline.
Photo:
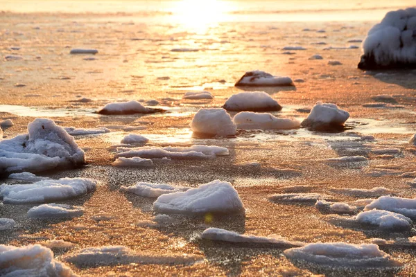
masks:
<path id="1" fill-rule="evenodd" d="M 122 149 L 116 157 L 140 157 L 144 159 L 210 159 L 228 155 L 228 149 L 220 146 L 192 145 L 175 148 L 133 148 Z"/>

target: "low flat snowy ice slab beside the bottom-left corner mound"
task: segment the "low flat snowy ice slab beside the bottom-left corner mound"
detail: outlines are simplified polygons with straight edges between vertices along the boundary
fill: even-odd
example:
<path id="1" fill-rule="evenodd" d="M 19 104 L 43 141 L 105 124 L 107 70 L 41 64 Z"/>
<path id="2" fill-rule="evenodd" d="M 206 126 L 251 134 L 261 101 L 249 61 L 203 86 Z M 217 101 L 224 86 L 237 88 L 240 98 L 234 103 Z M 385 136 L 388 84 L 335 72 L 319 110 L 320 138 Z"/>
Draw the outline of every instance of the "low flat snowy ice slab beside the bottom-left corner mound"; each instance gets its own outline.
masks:
<path id="1" fill-rule="evenodd" d="M 201 256 L 187 254 L 156 255 L 145 252 L 135 252 L 127 247 L 106 246 L 91 247 L 80 250 L 64 258 L 77 267 L 104 267 L 111 265 L 191 265 L 203 260 Z"/>

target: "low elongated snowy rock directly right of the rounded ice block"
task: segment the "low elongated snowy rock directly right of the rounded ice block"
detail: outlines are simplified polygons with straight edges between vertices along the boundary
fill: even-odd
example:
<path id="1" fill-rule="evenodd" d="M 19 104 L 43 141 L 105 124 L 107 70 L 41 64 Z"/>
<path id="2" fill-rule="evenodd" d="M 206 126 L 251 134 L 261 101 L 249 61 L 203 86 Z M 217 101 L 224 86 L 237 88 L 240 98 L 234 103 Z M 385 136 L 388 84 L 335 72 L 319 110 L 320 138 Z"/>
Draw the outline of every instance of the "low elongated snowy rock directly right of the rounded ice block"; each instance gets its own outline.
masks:
<path id="1" fill-rule="evenodd" d="M 296 129 L 300 121 L 291 118 L 277 118 L 272 114 L 241 111 L 233 118 L 238 129 Z"/>

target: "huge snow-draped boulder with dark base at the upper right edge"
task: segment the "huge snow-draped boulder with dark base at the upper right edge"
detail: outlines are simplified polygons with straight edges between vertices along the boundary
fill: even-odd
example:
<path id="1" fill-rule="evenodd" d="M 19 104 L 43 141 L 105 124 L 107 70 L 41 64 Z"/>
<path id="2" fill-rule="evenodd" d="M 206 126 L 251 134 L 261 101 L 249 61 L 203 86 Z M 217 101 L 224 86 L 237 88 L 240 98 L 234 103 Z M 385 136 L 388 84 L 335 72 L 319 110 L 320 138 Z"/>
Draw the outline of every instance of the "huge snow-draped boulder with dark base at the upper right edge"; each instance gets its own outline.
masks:
<path id="1" fill-rule="evenodd" d="M 388 12 L 362 47 L 359 69 L 416 68 L 416 8 Z"/>

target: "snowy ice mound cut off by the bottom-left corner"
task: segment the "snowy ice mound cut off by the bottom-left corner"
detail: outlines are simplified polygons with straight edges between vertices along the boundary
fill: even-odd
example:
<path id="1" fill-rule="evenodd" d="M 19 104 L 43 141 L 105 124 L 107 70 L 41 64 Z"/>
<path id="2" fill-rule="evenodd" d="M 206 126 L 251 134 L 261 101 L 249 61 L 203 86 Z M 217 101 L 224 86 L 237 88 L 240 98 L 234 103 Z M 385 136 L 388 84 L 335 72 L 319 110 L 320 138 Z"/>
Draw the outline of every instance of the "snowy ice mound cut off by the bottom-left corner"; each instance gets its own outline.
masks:
<path id="1" fill-rule="evenodd" d="M 0 276 L 56 276 L 70 277 L 76 274 L 53 258 L 51 249 L 39 244 L 12 247 L 0 244 Z"/>

